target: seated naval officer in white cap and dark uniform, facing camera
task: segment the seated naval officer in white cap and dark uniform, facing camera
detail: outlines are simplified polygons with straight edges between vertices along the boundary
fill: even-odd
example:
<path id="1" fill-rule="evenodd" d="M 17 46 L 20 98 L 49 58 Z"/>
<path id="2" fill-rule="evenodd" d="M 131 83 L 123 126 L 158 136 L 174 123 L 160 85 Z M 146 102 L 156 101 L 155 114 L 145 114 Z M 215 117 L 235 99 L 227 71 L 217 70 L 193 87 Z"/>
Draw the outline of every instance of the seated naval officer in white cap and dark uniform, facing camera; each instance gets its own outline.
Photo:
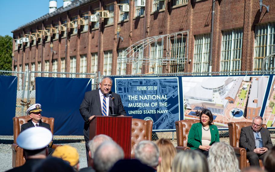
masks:
<path id="1" fill-rule="evenodd" d="M 30 127 L 44 127 L 50 130 L 50 125 L 41 121 L 42 119 L 41 111 L 42 111 L 41 104 L 33 104 L 27 109 L 26 113 L 30 115 L 31 120 L 28 121 L 26 124 L 21 125 L 20 133 Z M 53 145 L 53 141 L 51 141 L 50 144 L 48 145 L 49 155 L 52 154 L 54 151 L 51 148 L 52 145 Z"/>

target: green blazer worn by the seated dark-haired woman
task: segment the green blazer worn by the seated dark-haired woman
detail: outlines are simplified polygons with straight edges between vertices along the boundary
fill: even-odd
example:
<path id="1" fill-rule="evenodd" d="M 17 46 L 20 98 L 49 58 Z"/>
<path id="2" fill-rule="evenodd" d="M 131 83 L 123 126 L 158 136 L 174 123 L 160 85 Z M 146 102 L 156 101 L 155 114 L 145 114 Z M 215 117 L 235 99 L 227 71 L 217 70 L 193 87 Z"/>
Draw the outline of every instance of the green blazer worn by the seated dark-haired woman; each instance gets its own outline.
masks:
<path id="1" fill-rule="evenodd" d="M 217 126 L 209 124 L 211 142 L 209 145 L 220 141 L 219 131 Z M 199 149 L 199 145 L 202 145 L 202 123 L 195 123 L 190 128 L 188 134 L 187 146 L 191 149 Z"/>

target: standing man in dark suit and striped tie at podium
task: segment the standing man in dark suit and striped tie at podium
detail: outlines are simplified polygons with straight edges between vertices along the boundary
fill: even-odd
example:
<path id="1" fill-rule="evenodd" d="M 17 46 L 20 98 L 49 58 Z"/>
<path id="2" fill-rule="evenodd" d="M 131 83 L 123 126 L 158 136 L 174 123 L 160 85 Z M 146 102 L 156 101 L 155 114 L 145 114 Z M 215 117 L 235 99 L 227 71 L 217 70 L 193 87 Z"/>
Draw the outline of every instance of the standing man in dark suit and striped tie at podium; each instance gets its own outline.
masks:
<path id="1" fill-rule="evenodd" d="M 86 92 L 79 108 L 80 114 L 85 121 L 83 133 L 87 162 L 89 157 L 89 122 L 92 118 L 95 115 L 109 116 L 116 114 L 126 116 L 120 95 L 111 91 L 112 84 L 113 81 L 110 77 L 103 77 L 99 83 L 100 89 Z"/>

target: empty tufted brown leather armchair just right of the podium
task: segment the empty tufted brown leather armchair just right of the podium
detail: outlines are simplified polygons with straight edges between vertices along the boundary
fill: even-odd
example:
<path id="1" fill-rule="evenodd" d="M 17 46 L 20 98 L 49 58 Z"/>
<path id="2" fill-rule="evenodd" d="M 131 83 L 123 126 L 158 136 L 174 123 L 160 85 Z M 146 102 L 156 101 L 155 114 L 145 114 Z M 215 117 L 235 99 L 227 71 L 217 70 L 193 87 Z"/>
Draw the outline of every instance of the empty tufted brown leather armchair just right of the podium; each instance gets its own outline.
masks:
<path id="1" fill-rule="evenodd" d="M 132 119 L 132 135 L 131 135 L 131 159 L 135 155 L 136 145 L 143 140 L 152 140 L 153 121 Z"/>

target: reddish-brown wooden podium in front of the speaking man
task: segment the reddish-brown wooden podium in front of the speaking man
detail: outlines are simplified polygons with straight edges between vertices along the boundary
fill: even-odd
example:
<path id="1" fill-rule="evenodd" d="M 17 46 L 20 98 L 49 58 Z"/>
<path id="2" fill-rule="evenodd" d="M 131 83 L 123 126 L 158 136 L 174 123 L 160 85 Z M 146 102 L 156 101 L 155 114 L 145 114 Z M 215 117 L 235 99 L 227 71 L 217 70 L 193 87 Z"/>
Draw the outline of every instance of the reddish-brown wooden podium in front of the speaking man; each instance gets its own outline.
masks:
<path id="1" fill-rule="evenodd" d="M 131 158 L 132 117 L 95 116 L 90 122 L 90 140 L 99 134 L 105 134 L 121 146 L 125 158 Z"/>

